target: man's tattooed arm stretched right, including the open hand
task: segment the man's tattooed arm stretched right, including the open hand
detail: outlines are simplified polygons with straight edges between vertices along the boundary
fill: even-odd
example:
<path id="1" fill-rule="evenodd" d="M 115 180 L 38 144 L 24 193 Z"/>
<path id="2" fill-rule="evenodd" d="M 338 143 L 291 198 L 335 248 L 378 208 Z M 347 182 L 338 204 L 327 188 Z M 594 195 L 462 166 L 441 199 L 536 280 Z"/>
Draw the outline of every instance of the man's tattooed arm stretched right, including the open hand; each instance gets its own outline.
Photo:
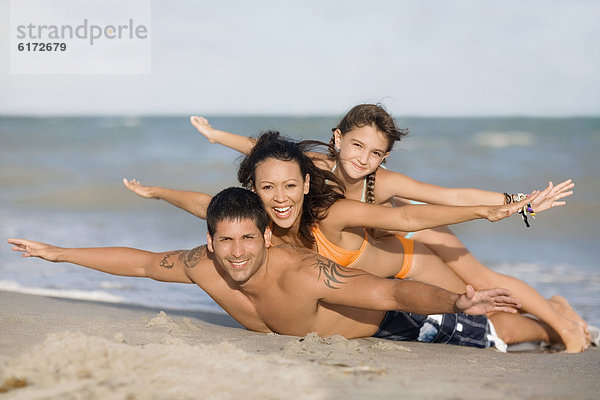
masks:
<path id="1" fill-rule="evenodd" d="M 381 311 L 407 311 L 417 314 L 486 314 L 492 311 L 515 313 L 518 299 L 507 289 L 457 294 L 427 283 L 385 279 L 365 271 L 342 267 L 323 257 L 315 257 L 305 268 L 303 285 L 320 301 Z"/>

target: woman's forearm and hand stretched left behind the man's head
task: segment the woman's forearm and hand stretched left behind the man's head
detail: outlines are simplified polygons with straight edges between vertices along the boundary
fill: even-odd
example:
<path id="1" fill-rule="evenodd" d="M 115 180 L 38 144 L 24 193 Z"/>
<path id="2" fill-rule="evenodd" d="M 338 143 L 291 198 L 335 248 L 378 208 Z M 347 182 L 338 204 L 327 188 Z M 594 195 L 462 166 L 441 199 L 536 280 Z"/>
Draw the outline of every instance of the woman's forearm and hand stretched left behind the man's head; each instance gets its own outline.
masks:
<path id="1" fill-rule="evenodd" d="M 212 196 L 202 192 L 166 189 L 159 186 L 143 186 L 135 179 L 123 178 L 123 184 L 138 196 L 146 199 L 164 200 L 202 219 L 206 219 L 206 209 L 212 199 Z"/>

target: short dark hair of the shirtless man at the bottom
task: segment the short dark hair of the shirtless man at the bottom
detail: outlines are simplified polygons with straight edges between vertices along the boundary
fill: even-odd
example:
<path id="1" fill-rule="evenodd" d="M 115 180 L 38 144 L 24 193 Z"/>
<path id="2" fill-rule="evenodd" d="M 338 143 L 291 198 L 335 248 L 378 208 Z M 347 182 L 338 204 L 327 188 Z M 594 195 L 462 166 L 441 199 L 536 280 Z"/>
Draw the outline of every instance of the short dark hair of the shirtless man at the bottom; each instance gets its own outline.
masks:
<path id="1" fill-rule="evenodd" d="M 230 187 L 219 192 L 212 198 L 206 210 L 206 225 L 211 237 L 214 237 L 217 223 L 242 219 L 253 220 L 261 233 L 265 233 L 270 221 L 260 197 L 240 187 Z"/>

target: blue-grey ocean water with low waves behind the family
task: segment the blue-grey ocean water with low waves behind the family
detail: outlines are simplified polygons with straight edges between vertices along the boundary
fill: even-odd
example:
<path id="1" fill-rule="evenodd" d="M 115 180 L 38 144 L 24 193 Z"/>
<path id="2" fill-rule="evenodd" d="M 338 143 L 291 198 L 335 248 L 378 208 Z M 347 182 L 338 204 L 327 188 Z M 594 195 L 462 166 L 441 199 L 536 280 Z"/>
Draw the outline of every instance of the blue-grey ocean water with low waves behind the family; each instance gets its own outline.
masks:
<path id="1" fill-rule="evenodd" d="M 340 116 L 209 117 L 243 135 L 277 129 L 329 140 Z M 453 227 L 486 265 L 525 280 L 545 296 L 562 294 L 600 325 L 600 118 L 398 117 L 410 135 L 387 167 L 425 182 L 528 192 L 572 178 L 575 194 L 526 229 L 518 216 Z M 131 246 L 151 251 L 205 243 L 201 221 L 142 199 L 122 178 L 210 194 L 236 185 L 240 157 L 210 144 L 187 116 L 0 117 L 0 235 L 59 246 Z M 21 259 L 0 247 L 0 289 L 220 310 L 193 285 L 117 277 L 71 264 Z"/>

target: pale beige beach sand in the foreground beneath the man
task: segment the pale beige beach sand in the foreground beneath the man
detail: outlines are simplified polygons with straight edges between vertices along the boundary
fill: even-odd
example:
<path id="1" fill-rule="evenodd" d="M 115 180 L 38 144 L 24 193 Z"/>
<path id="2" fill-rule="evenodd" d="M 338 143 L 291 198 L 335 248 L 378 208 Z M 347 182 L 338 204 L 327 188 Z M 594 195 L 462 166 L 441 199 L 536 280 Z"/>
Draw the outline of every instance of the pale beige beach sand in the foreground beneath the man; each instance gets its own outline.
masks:
<path id="1" fill-rule="evenodd" d="M 599 373 L 598 348 L 297 338 L 221 314 L 0 292 L 0 400 L 597 399 Z"/>

